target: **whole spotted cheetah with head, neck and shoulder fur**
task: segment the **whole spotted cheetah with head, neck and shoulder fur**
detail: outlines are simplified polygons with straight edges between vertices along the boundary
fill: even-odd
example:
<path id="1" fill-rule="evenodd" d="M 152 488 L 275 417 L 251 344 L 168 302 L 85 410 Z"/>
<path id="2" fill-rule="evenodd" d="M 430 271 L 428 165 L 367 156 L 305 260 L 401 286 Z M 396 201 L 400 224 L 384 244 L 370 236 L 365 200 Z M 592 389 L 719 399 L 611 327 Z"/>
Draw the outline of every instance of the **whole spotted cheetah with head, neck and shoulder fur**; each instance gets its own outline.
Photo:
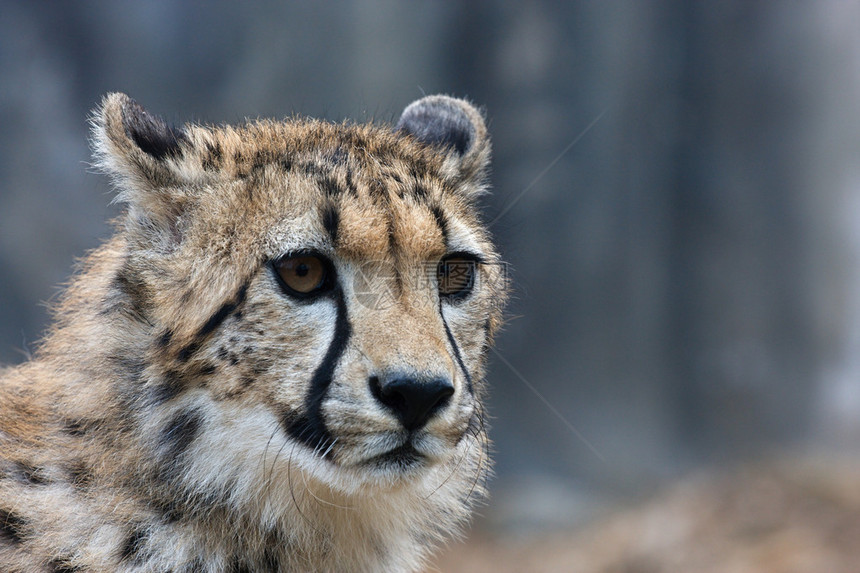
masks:
<path id="1" fill-rule="evenodd" d="M 92 128 L 123 212 L 0 377 L 0 570 L 419 570 L 490 471 L 482 112 Z"/>

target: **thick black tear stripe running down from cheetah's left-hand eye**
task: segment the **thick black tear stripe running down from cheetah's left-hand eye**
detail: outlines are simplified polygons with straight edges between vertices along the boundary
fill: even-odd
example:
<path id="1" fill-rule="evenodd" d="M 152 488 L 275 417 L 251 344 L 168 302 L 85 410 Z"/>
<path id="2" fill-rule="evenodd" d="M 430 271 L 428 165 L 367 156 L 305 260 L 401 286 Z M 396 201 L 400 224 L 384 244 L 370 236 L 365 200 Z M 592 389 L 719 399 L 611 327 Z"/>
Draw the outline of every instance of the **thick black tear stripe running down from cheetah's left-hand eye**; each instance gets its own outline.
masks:
<path id="1" fill-rule="evenodd" d="M 352 335 L 352 326 L 346 313 L 346 302 L 340 289 L 335 291 L 335 300 L 337 318 L 334 336 L 325 357 L 311 378 L 311 388 L 305 399 L 305 414 L 296 416 L 295 412 L 289 411 L 281 416 L 281 423 L 292 438 L 312 450 L 320 448 L 326 451 L 327 456 L 330 454 L 328 449 L 332 439 L 322 417 L 322 402 L 331 386 L 337 363 L 343 356 L 349 337 Z"/>

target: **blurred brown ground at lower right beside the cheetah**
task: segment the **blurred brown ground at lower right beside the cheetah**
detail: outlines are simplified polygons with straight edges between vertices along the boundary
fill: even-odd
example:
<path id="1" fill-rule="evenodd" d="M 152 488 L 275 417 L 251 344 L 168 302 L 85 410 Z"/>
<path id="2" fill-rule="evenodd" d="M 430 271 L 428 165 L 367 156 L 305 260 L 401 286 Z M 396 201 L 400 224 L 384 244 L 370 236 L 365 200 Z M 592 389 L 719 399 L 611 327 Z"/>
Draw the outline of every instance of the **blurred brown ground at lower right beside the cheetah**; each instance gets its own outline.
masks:
<path id="1" fill-rule="evenodd" d="M 529 540 L 473 535 L 445 573 L 857 573 L 860 460 L 699 472 L 651 499 Z"/>

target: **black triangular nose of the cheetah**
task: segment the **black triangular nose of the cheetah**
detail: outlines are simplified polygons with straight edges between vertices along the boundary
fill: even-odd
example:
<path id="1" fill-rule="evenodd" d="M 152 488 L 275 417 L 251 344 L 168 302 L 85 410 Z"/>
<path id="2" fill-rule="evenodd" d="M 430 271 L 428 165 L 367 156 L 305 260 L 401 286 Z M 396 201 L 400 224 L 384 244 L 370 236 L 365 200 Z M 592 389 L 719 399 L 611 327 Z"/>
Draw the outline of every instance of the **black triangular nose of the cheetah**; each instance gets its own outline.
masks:
<path id="1" fill-rule="evenodd" d="M 454 386 L 444 378 L 391 377 L 380 383 L 379 378 L 373 376 L 370 390 L 377 400 L 394 412 L 404 428 L 417 430 L 448 403 Z"/>

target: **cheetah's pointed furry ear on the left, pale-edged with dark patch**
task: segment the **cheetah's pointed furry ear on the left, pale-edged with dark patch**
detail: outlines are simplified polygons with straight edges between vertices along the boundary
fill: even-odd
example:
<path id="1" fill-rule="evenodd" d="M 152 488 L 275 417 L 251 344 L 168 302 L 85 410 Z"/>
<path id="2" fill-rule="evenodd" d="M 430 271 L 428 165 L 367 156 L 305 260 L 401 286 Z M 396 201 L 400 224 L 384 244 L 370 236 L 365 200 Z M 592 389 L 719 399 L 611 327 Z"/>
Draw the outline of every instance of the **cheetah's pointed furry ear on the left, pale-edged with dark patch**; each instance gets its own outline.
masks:
<path id="1" fill-rule="evenodd" d="M 176 237 L 189 197 L 183 156 L 192 144 L 184 129 L 168 125 L 125 94 L 111 93 L 92 118 L 96 166 L 110 175 L 117 201 L 133 220 Z"/>

